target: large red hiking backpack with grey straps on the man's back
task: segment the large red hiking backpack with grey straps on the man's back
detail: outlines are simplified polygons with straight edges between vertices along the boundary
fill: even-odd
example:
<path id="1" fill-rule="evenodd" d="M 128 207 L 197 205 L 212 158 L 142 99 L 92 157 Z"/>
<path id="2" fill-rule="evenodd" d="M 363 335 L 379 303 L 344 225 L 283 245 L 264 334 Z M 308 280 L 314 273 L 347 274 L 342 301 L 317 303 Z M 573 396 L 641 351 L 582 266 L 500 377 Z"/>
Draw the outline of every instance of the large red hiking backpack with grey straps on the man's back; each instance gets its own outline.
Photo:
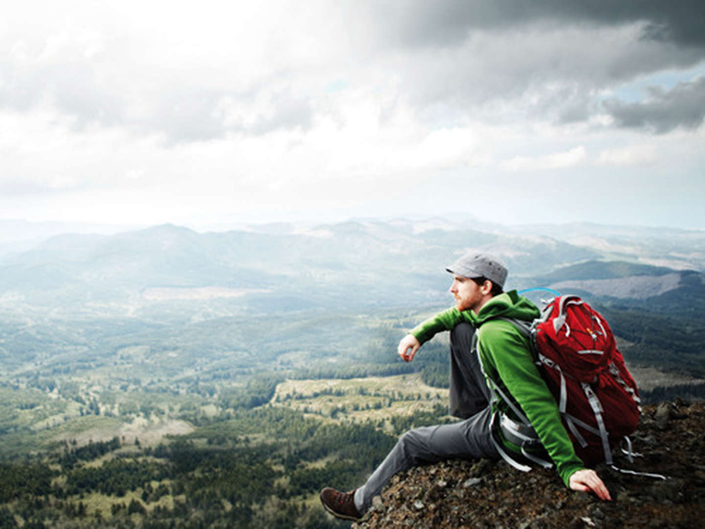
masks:
<path id="1" fill-rule="evenodd" d="M 611 465 L 612 447 L 637 429 L 641 408 L 609 325 L 578 296 L 558 296 L 528 332 L 577 456 Z"/>

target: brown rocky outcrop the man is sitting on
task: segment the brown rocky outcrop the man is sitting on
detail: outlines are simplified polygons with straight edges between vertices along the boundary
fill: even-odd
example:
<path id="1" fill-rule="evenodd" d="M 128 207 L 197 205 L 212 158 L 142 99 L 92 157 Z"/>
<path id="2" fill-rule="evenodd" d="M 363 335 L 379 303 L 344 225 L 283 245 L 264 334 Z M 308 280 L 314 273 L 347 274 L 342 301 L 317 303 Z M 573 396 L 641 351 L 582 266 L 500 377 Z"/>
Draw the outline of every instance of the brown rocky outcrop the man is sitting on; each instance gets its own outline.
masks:
<path id="1" fill-rule="evenodd" d="M 613 501 L 572 492 L 554 470 L 520 473 L 503 461 L 446 461 L 393 478 L 353 528 L 697 528 L 705 524 L 705 407 L 646 406 L 632 436 L 643 457 L 596 470 Z"/>

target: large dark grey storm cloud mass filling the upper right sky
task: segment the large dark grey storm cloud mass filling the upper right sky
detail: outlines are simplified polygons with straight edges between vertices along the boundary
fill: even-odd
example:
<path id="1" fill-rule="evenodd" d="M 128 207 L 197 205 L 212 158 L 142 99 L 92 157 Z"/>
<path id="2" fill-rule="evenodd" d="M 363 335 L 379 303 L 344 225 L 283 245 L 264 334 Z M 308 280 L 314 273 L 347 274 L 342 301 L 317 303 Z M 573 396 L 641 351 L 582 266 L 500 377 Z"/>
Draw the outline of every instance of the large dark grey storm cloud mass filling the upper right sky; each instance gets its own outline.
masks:
<path id="1" fill-rule="evenodd" d="M 419 57 L 402 74 L 408 101 L 441 121 L 522 101 L 527 116 L 579 123 L 599 111 L 600 90 L 705 60 L 702 0 L 367 5 L 378 45 Z"/>

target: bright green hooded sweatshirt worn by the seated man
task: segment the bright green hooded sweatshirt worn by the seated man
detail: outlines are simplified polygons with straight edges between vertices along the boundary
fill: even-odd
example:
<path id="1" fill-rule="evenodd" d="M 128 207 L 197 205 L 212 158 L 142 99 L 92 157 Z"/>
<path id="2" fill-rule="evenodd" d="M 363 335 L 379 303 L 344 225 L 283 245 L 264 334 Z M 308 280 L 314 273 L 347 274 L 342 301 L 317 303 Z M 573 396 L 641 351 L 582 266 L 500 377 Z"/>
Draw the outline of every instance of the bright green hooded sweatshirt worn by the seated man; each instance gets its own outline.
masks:
<path id="1" fill-rule="evenodd" d="M 529 339 L 512 323 L 494 319 L 497 317 L 530 322 L 539 317 L 539 309 L 516 291 L 510 291 L 494 296 L 477 315 L 471 310 L 460 312 L 457 308 L 450 308 L 422 322 L 410 334 L 419 343 L 424 343 L 434 334 L 450 331 L 460 322 L 468 322 L 478 329 L 479 356 L 485 376 L 508 394 L 526 415 L 544 449 L 556 463 L 558 475 L 568 486 L 570 476 L 585 468 L 584 463 L 575 454 L 568 432 L 560 420 L 556 399 L 534 364 Z M 518 420 L 510 406 L 501 399 L 493 406 Z M 502 439 L 502 443 L 506 449 L 520 452 L 519 447 L 506 439 Z"/>

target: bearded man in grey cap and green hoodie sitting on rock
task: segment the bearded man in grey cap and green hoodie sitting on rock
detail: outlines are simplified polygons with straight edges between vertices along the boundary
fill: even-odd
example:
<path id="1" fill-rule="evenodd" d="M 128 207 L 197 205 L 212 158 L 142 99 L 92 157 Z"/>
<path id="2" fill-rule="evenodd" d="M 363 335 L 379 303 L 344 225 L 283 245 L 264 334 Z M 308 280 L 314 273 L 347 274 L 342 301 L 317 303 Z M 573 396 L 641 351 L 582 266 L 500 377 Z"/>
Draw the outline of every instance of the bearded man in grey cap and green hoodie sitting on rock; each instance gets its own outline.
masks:
<path id="1" fill-rule="evenodd" d="M 412 329 L 400 341 L 398 353 L 410 362 L 434 334 L 450 331 L 450 413 L 464 420 L 406 432 L 362 487 L 321 490 L 323 506 L 333 516 L 357 520 L 396 473 L 448 458 L 482 457 L 505 458 L 517 468 L 541 461 L 541 456 L 551 458 L 572 490 L 610 500 L 602 480 L 575 455 L 556 400 L 534 365 L 529 340 L 501 319 L 531 321 L 539 310 L 516 291 L 503 292 L 507 269 L 496 257 L 468 254 L 446 270 L 453 274 L 455 307 Z M 517 426 L 517 413 L 522 412 L 531 431 Z M 528 445 L 520 440 L 525 437 L 532 438 Z"/>

